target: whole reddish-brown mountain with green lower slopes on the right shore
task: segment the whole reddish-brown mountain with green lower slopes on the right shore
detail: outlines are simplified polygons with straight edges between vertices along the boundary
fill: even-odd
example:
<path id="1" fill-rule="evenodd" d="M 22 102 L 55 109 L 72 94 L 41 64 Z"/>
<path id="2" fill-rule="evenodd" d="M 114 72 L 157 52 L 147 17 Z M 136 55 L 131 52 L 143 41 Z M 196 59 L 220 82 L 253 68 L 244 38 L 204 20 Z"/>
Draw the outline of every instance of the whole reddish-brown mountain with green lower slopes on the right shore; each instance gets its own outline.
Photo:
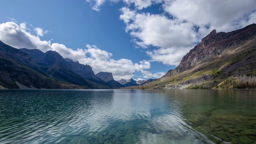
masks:
<path id="1" fill-rule="evenodd" d="M 256 24 L 232 32 L 213 30 L 182 58 L 179 66 L 143 88 L 238 88 L 240 76 L 246 77 L 250 88 L 250 81 L 255 83 L 255 56 Z"/>

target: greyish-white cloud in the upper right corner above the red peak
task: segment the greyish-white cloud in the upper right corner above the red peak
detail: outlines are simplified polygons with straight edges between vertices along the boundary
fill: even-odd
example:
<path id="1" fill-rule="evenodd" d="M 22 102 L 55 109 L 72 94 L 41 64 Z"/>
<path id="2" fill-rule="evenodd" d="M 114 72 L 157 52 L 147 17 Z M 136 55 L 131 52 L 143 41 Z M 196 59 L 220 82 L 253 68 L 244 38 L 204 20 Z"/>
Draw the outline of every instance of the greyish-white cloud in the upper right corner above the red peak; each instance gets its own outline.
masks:
<path id="1" fill-rule="evenodd" d="M 256 10 L 255 0 L 176 0 L 166 2 L 164 10 L 179 20 L 203 27 L 229 32 L 240 28 L 246 15 Z M 238 24 L 238 25 L 236 25 Z"/>

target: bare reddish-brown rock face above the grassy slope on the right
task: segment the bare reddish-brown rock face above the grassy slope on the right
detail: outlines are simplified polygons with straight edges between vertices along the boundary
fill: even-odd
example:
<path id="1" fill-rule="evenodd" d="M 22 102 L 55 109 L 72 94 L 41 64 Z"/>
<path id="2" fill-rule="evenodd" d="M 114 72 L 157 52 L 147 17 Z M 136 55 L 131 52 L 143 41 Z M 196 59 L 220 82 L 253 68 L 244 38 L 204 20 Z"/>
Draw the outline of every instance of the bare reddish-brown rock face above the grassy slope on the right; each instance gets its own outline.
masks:
<path id="1" fill-rule="evenodd" d="M 202 41 L 190 50 L 181 60 L 180 65 L 167 72 L 166 76 L 184 72 L 199 64 L 212 62 L 234 50 L 234 47 L 256 36 L 256 24 L 248 25 L 232 32 L 213 30 Z"/>

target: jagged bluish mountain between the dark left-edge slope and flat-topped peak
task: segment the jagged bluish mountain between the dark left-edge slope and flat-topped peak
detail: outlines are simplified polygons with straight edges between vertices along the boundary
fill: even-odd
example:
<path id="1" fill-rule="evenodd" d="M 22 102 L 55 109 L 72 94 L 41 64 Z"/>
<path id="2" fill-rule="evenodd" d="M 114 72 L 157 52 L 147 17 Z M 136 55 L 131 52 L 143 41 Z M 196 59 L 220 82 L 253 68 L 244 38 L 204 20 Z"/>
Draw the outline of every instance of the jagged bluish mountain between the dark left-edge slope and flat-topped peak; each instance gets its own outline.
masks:
<path id="1" fill-rule="evenodd" d="M 38 66 L 51 78 L 71 84 L 88 86 L 90 88 L 111 88 L 106 82 L 98 78 L 88 65 L 65 60 L 58 52 L 20 49 L 34 58 Z"/>

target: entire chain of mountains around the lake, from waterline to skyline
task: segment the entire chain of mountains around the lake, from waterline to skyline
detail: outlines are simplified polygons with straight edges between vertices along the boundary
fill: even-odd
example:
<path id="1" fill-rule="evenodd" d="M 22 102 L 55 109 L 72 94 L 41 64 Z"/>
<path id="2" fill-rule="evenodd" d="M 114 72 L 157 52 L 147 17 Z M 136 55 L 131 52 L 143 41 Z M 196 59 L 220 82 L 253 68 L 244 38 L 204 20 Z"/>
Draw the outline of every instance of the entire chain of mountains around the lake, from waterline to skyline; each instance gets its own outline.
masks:
<path id="1" fill-rule="evenodd" d="M 0 41 L 0 88 L 234 89 L 256 88 L 256 24 L 232 32 L 213 30 L 173 70 L 159 79 L 114 80 L 58 52 L 13 48 Z"/>

